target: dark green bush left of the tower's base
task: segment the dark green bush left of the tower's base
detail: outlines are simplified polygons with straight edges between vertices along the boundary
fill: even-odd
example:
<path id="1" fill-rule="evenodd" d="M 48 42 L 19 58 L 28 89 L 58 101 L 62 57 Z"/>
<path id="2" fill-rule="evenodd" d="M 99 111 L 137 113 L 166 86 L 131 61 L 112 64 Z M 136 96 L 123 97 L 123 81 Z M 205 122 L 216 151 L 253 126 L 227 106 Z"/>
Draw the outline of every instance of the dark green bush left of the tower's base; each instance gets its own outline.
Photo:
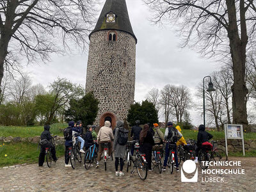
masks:
<path id="1" fill-rule="evenodd" d="M 99 110 L 98 105 L 99 100 L 91 92 L 81 99 L 70 99 L 70 107 L 65 111 L 65 120 L 81 120 L 84 125 L 92 125 Z"/>

